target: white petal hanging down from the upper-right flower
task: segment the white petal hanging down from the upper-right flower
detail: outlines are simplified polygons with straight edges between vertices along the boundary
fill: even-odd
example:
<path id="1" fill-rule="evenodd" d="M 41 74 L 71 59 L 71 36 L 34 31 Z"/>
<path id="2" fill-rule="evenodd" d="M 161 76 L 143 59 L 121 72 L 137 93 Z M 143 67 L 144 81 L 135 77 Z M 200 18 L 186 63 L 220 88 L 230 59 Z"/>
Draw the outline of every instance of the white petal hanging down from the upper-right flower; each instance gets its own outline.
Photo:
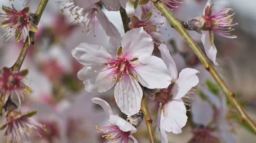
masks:
<path id="1" fill-rule="evenodd" d="M 210 43 L 210 32 L 209 31 L 203 31 L 202 30 L 202 43 L 205 50 L 205 53 L 209 59 L 212 60 L 212 62 L 218 66 L 218 62 L 216 62 L 216 55 L 217 55 L 217 49 L 216 46 L 211 45 Z"/>

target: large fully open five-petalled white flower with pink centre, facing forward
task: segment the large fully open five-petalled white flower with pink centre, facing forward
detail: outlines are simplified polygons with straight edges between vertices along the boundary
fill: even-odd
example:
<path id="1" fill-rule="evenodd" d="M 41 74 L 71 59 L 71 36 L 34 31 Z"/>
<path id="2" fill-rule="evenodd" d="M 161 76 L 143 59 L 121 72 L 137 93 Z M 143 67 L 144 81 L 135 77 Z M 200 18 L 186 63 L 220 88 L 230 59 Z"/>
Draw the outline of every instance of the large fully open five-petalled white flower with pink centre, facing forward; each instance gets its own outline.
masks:
<path id="1" fill-rule="evenodd" d="M 142 89 L 166 88 L 171 77 L 163 60 L 153 56 L 154 43 L 143 28 L 128 31 L 122 47 L 112 57 L 104 47 L 81 43 L 72 55 L 84 65 L 78 78 L 88 92 L 106 92 L 115 84 L 115 101 L 124 114 L 136 114 L 141 108 Z M 140 82 L 140 84 L 138 83 Z"/>

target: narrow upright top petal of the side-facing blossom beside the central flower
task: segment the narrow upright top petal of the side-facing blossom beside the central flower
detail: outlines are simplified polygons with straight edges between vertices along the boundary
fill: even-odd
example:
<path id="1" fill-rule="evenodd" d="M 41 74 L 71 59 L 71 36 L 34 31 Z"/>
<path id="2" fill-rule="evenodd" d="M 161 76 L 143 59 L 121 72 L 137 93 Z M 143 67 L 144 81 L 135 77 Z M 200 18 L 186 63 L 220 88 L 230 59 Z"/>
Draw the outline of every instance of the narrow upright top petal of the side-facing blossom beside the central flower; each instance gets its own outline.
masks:
<path id="1" fill-rule="evenodd" d="M 158 48 L 161 52 L 163 62 L 166 64 L 168 70 L 171 72 L 172 81 L 177 80 L 178 71 L 177 71 L 175 62 L 172 59 L 170 51 L 168 50 L 167 46 L 164 44 L 161 44 Z"/>

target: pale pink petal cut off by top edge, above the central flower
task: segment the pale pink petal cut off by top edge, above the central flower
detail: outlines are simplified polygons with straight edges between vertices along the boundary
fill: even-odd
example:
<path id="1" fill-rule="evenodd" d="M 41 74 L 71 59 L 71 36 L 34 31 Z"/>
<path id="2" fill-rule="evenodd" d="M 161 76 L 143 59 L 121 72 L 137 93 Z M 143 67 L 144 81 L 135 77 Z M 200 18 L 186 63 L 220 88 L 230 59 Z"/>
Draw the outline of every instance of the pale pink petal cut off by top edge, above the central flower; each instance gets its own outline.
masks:
<path id="1" fill-rule="evenodd" d="M 128 0 L 102 0 L 108 11 L 119 11 L 120 7 L 125 8 Z"/>

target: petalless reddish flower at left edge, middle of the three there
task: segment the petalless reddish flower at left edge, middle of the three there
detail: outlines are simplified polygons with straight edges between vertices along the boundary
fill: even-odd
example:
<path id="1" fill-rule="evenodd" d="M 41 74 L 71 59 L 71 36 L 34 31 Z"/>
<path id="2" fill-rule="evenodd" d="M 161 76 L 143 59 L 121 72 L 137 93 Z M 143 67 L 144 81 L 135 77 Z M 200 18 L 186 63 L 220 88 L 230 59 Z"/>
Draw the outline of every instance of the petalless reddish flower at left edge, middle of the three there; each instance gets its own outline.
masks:
<path id="1" fill-rule="evenodd" d="M 0 95 L 1 98 L 4 96 L 2 102 L 5 102 L 11 93 L 16 93 L 21 103 L 20 98 L 32 92 L 31 88 L 25 84 L 24 78 L 27 74 L 28 70 L 10 71 L 9 68 L 3 67 L 0 75 Z"/>

